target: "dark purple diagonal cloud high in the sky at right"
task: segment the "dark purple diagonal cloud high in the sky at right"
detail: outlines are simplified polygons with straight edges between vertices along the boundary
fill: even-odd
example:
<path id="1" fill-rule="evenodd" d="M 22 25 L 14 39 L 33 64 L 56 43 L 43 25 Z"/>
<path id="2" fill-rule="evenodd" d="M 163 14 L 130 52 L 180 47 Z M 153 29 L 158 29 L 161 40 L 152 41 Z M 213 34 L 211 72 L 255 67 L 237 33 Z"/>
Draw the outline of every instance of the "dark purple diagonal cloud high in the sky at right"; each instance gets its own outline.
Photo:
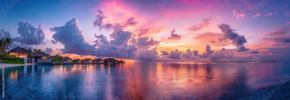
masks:
<path id="1" fill-rule="evenodd" d="M 232 45 L 238 47 L 238 52 L 245 52 L 249 50 L 249 48 L 243 46 L 244 43 L 247 43 L 245 36 L 234 32 L 235 29 L 231 29 L 230 25 L 222 23 L 220 25 L 218 24 L 218 28 L 222 31 L 225 39 L 231 40 Z"/>

